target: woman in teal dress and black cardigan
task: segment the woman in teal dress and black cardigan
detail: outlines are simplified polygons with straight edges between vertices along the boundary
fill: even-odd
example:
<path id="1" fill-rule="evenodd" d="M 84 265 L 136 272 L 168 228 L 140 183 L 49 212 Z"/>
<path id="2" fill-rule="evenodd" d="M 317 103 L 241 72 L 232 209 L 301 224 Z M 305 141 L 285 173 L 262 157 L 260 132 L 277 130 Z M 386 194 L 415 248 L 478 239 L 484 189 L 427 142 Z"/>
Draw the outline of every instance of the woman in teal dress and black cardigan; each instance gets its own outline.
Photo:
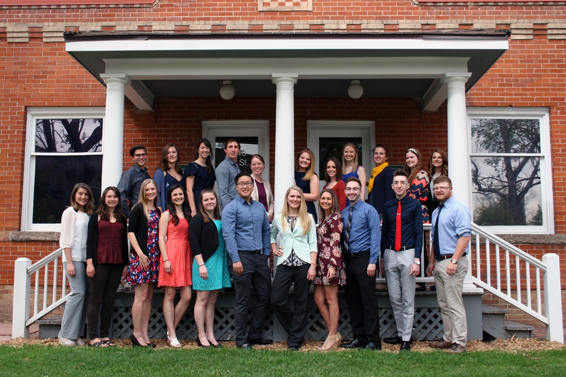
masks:
<path id="1" fill-rule="evenodd" d="M 191 219 L 189 238 L 195 256 L 192 289 L 196 291 L 196 343 L 205 348 L 221 347 L 214 336 L 214 311 L 220 289 L 231 287 L 228 252 L 222 236 L 218 197 L 212 189 L 200 193 L 200 211 Z"/>

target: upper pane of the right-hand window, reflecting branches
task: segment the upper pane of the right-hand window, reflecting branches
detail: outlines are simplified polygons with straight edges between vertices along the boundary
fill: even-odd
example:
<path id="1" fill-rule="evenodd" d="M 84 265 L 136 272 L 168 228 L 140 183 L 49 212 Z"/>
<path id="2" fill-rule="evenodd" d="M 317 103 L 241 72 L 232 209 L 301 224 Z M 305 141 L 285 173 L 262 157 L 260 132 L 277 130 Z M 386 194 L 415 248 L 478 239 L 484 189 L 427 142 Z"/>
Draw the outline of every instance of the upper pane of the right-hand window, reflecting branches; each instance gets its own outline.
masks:
<path id="1" fill-rule="evenodd" d="M 541 153 L 539 119 L 471 119 L 472 153 Z"/>

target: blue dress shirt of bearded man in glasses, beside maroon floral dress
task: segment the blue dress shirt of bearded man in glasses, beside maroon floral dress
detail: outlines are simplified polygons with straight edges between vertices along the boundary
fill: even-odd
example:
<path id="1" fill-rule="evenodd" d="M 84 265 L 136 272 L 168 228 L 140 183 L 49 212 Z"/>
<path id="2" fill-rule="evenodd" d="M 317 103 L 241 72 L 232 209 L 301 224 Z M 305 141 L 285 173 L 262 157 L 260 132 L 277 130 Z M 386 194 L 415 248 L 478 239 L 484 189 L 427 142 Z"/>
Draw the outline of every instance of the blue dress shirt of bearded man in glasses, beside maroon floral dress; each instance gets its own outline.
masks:
<path id="1" fill-rule="evenodd" d="M 344 230 L 350 215 L 350 205 L 342 210 Z M 342 236 L 342 239 L 344 237 Z M 359 253 L 370 250 L 370 263 L 377 263 L 379 258 L 379 245 L 381 240 L 381 226 L 378 211 L 366 202 L 358 200 L 354 204 L 348 242 L 349 253 Z"/>

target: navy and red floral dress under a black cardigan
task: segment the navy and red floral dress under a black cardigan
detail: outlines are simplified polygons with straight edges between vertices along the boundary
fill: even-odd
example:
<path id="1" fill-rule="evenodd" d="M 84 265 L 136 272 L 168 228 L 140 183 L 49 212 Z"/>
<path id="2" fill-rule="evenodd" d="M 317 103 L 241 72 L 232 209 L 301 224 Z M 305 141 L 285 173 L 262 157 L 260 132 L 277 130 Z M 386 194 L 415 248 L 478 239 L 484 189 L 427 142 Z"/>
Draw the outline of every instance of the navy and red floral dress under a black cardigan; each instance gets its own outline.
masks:
<path id="1" fill-rule="evenodd" d="M 159 244 L 157 235 L 159 231 L 159 214 L 157 211 L 149 210 L 147 220 L 147 253 L 149 258 L 149 268 L 144 271 L 140 264 L 137 253 L 130 254 L 130 264 L 128 265 L 127 283 L 130 285 L 141 283 L 157 283 L 159 276 Z"/>

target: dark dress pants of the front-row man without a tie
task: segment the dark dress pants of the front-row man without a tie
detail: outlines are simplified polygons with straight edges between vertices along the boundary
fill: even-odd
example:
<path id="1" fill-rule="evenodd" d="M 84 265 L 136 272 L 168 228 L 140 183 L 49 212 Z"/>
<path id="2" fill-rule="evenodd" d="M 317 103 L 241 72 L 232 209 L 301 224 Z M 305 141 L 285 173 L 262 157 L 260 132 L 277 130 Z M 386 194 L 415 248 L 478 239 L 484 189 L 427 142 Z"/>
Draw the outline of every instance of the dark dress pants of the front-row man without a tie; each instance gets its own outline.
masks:
<path id="1" fill-rule="evenodd" d="M 233 262 L 228 258 L 228 268 L 234 280 L 234 330 L 236 332 L 236 345 L 247 343 L 247 339 L 263 339 L 263 325 L 269 310 L 269 294 L 271 293 L 269 256 L 239 253 L 239 257 L 244 270 L 240 276 L 234 274 Z M 248 308 L 250 306 L 252 285 L 256 293 L 256 300 L 250 330 L 248 330 Z"/>

